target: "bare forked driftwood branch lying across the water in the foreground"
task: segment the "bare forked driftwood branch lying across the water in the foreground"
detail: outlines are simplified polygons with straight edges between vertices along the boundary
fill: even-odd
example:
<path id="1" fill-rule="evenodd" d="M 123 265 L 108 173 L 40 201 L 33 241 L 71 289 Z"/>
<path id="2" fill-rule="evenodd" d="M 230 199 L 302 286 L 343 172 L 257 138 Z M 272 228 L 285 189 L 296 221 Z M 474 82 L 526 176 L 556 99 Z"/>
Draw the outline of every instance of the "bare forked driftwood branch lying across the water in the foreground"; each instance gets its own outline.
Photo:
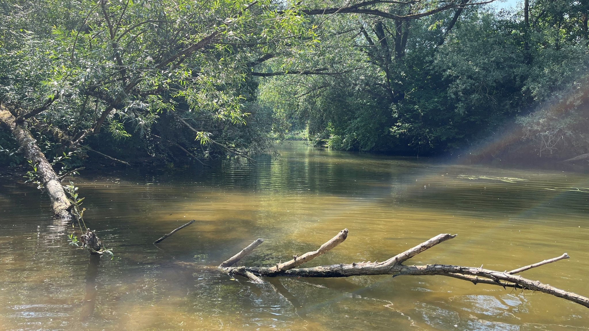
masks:
<path id="1" fill-rule="evenodd" d="M 223 272 L 228 274 L 236 274 L 247 277 L 254 283 L 264 282 L 260 277 L 350 277 L 350 276 L 366 276 L 375 274 L 391 274 L 396 276 L 448 276 L 456 279 L 468 280 L 474 284 L 491 284 L 501 287 L 514 287 L 516 289 L 534 290 L 542 293 L 552 294 L 553 296 L 561 297 L 563 299 L 581 304 L 589 308 L 589 298 L 580 296 L 575 293 L 566 292 L 548 284 L 543 284 L 537 280 L 525 279 L 521 276 L 516 276 L 516 273 L 523 272 L 535 267 L 543 266 L 548 263 L 557 262 L 562 259 L 568 259 L 567 253 L 562 254 L 554 259 L 544 260 L 542 262 L 530 264 L 529 266 L 520 267 L 511 271 L 498 272 L 495 270 L 483 269 L 481 267 L 463 267 L 450 266 L 446 264 L 427 264 L 425 266 L 408 266 L 403 264 L 406 260 L 411 259 L 417 254 L 434 247 L 446 240 L 456 237 L 456 234 L 438 234 L 423 243 L 412 247 L 403 253 L 397 254 L 384 262 L 353 262 L 351 264 L 332 264 L 330 266 L 317 266 L 310 268 L 296 268 L 305 262 L 309 262 L 314 257 L 326 253 L 333 247 L 342 243 L 348 236 L 348 229 L 340 231 L 337 236 L 333 237 L 325 244 L 323 244 L 316 251 L 310 251 L 300 257 L 294 256 L 292 260 L 285 263 L 276 263 L 272 267 L 231 267 L 237 260 L 243 258 L 251 253 L 254 248 L 263 242 L 262 239 L 254 241 L 250 246 L 240 251 L 240 253 L 231 257 L 226 262 L 219 266 Z M 233 261 L 235 259 L 235 261 Z"/>

